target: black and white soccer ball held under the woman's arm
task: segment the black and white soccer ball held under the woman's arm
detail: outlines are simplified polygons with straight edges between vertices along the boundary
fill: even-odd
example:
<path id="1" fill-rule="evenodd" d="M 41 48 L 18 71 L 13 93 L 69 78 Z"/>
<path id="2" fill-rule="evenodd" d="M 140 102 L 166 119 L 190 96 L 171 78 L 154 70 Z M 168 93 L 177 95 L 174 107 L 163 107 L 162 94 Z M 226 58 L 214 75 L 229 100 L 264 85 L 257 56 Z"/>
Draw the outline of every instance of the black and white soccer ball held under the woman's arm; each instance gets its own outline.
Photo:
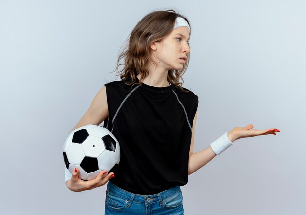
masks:
<path id="1" fill-rule="evenodd" d="M 79 178 L 92 180 L 119 164 L 120 146 L 108 129 L 89 124 L 71 131 L 63 146 L 63 156 L 69 172 L 78 168 Z"/>

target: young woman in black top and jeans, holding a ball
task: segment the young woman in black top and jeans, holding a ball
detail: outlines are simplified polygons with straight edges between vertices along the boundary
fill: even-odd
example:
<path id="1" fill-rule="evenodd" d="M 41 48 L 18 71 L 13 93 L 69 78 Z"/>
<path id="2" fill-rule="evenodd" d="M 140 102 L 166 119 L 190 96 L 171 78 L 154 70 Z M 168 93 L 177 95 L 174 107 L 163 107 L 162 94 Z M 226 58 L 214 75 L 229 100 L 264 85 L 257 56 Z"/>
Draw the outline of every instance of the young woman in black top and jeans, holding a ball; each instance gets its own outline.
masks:
<path id="1" fill-rule="evenodd" d="M 104 121 L 120 143 L 120 163 L 107 176 L 104 172 L 83 181 L 78 169 L 72 175 L 66 170 L 66 185 L 72 191 L 108 182 L 107 215 L 181 215 L 180 186 L 187 183 L 189 174 L 237 139 L 279 132 L 276 128 L 251 130 L 252 125 L 235 127 L 194 153 L 198 97 L 180 82 L 189 62 L 189 38 L 189 21 L 175 11 L 146 15 L 119 55 L 121 80 L 105 84 L 72 129 Z M 121 59 L 124 63 L 119 64 Z"/>

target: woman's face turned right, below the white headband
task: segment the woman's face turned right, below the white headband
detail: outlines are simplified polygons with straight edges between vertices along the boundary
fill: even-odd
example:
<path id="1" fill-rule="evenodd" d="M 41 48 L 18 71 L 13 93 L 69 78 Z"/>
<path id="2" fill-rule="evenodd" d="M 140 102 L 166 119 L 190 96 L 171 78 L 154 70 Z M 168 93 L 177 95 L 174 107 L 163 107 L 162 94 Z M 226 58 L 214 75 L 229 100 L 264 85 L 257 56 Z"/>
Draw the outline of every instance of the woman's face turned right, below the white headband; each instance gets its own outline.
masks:
<path id="1" fill-rule="evenodd" d="M 181 70 L 186 62 L 189 49 L 189 28 L 178 27 L 160 42 L 151 45 L 155 61 L 166 71 L 170 69 Z M 185 58 L 184 60 L 182 58 Z"/>

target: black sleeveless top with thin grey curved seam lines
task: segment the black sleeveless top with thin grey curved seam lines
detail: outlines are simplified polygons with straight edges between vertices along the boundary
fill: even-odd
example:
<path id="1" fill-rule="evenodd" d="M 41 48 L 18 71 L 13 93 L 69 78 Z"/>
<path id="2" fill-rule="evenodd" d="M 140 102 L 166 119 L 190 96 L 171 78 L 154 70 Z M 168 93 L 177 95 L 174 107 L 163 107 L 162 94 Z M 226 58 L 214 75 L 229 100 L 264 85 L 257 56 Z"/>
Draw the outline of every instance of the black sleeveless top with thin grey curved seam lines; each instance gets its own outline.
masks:
<path id="1" fill-rule="evenodd" d="M 130 81 L 130 79 L 127 79 Z M 103 127 L 120 144 L 120 163 L 110 172 L 116 186 L 152 195 L 188 182 L 191 131 L 198 97 L 174 85 L 105 84 L 109 116 Z M 186 90 L 184 88 L 184 90 Z"/>

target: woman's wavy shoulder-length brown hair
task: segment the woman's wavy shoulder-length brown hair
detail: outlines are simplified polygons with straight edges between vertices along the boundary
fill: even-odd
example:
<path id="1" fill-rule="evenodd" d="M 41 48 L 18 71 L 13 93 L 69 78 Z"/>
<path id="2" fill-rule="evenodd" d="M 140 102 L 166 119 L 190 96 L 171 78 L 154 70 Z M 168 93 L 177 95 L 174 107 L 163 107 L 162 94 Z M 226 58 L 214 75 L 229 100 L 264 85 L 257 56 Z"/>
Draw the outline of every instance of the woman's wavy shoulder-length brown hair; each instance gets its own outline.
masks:
<path id="1" fill-rule="evenodd" d="M 127 48 L 119 54 L 116 64 L 116 69 L 122 80 L 131 77 L 131 82 L 127 82 L 128 85 L 136 84 L 136 75 L 138 75 L 138 73 L 141 75 L 141 80 L 147 77 L 149 71 L 145 69 L 145 64 L 152 61 L 153 64 L 157 65 L 157 63 L 150 58 L 150 44 L 154 41 L 161 41 L 170 34 L 177 17 L 184 18 L 189 24 L 186 17 L 176 13 L 174 10 L 153 11 L 143 17 L 131 31 L 129 43 L 126 46 Z M 184 92 L 186 91 L 182 88 L 184 83 L 182 75 L 188 67 L 189 56 L 190 53 L 187 54 L 186 63 L 181 70 L 169 70 L 167 77 L 168 82 Z M 124 63 L 119 64 L 121 59 L 124 59 Z M 119 66 L 121 65 L 124 67 L 122 70 L 119 70 Z M 139 80 L 138 83 L 140 86 L 141 80 Z M 182 82 L 180 82 L 180 80 L 182 80 Z"/>

